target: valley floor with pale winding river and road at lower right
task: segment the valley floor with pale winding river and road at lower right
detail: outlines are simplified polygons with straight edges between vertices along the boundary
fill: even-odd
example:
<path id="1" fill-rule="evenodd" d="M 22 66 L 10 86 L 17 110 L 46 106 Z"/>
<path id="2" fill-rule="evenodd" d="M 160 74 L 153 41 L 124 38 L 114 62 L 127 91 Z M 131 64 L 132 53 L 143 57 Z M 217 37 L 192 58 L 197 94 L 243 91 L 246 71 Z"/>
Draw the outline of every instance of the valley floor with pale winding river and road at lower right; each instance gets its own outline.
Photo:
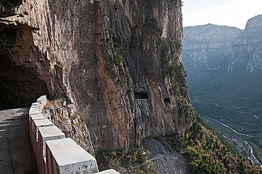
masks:
<path id="1" fill-rule="evenodd" d="M 208 106 L 208 108 L 213 108 L 213 110 L 216 110 L 216 112 L 218 111 L 220 116 L 216 118 L 215 115 L 210 114 L 210 109 L 210 112 L 208 111 L 205 112 L 205 114 L 202 114 L 203 120 L 217 129 L 218 134 L 220 134 L 221 137 L 225 139 L 225 141 L 234 147 L 235 151 L 239 155 L 252 161 L 253 164 L 262 167 L 262 155 L 260 153 L 262 148 L 257 146 L 257 143 L 254 143 L 253 141 L 254 139 L 256 139 L 258 142 L 262 141 L 261 133 L 259 133 L 259 131 L 254 132 L 250 126 L 254 123 L 258 125 L 259 122 L 262 121 L 260 116 L 246 112 L 243 109 L 237 109 L 237 107 L 233 108 L 226 106 L 225 104 L 221 105 L 220 103 L 214 101 L 203 101 L 196 98 L 192 100 L 192 102 L 195 103 L 196 106 L 201 104 L 203 107 Z M 202 108 L 199 109 L 201 114 Z M 250 125 L 246 125 L 245 127 L 238 124 L 241 122 L 245 123 L 247 121 L 250 121 Z M 238 130 L 236 130 L 236 128 Z M 241 133 L 239 130 L 244 130 L 246 132 Z"/>

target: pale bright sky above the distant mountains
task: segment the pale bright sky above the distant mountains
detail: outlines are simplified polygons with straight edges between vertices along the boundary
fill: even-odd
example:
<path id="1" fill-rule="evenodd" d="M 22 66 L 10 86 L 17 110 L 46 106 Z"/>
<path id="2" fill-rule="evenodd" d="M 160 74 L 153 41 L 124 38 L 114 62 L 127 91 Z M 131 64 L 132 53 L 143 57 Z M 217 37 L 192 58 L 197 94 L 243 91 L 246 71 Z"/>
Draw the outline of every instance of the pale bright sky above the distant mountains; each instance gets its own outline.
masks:
<path id="1" fill-rule="evenodd" d="M 262 14 L 262 0 L 182 0 L 183 26 L 212 23 L 245 29 L 248 19 Z"/>

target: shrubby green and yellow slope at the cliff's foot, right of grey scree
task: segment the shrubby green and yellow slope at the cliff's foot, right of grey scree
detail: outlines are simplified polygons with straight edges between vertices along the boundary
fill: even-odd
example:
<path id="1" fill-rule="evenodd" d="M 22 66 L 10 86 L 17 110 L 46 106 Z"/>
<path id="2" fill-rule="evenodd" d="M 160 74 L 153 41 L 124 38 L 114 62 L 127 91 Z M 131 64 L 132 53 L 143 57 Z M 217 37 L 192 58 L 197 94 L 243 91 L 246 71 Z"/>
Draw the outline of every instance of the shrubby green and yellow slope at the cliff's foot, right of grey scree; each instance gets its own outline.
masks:
<path id="1" fill-rule="evenodd" d="M 226 145 L 195 112 L 195 121 L 183 135 L 167 137 L 172 148 L 182 152 L 192 174 L 259 174 L 262 168 L 252 165 Z"/>

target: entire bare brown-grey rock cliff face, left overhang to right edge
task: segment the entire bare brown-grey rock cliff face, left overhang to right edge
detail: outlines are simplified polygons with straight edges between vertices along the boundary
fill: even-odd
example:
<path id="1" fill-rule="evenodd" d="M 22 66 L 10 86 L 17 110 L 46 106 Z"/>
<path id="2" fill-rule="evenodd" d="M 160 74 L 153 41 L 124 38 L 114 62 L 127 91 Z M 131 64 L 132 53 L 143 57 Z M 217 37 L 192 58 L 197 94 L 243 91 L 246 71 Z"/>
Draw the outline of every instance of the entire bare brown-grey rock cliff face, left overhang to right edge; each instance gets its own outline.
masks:
<path id="1" fill-rule="evenodd" d="M 30 0 L 1 9 L 1 55 L 25 69 L 13 79 L 18 91 L 32 83 L 20 103 L 39 95 L 30 93 L 36 83 L 39 93 L 66 97 L 95 150 L 129 148 L 191 126 L 180 0 Z M 15 15 L 6 17 L 5 9 Z M 6 99 L 14 85 L 1 74 Z"/>

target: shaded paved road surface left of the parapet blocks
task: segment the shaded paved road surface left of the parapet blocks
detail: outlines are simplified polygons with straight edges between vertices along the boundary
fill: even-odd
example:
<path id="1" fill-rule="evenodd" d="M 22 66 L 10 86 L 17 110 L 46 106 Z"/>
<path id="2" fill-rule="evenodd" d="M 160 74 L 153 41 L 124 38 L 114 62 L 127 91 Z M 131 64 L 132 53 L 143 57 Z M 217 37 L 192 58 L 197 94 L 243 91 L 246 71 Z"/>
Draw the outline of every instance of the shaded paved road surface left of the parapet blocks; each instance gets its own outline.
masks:
<path id="1" fill-rule="evenodd" d="M 37 174 L 28 108 L 0 110 L 0 174 Z"/>

